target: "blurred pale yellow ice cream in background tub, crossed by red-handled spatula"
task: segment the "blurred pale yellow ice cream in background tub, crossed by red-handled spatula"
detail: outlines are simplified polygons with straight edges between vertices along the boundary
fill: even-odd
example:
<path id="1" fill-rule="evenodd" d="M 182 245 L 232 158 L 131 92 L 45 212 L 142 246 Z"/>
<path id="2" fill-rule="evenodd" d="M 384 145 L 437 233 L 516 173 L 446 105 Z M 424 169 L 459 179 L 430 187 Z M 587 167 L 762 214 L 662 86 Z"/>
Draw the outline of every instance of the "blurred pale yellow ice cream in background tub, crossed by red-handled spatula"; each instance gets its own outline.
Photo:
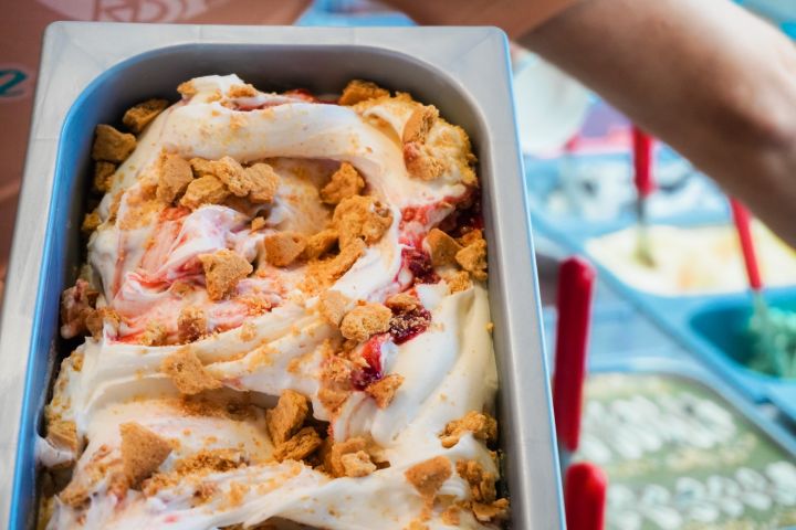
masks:
<path id="1" fill-rule="evenodd" d="M 796 284 L 796 252 L 760 223 L 753 223 L 762 275 L 769 286 Z M 631 287 L 660 296 L 743 292 L 743 256 L 732 225 L 649 226 L 656 261 L 648 267 L 636 256 L 636 229 L 589 241 L 588 254 Z"/>

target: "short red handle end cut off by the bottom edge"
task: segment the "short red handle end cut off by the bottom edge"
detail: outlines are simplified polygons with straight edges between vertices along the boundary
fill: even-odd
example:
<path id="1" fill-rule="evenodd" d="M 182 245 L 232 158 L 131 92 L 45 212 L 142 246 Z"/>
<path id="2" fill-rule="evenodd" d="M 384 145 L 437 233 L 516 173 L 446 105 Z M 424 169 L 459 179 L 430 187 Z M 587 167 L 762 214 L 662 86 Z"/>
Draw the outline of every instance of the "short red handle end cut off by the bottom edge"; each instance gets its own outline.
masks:
<path id="1" fill-rule="evenodd" d="M 567 530 L 603 530 L 608 479 L 588 462 L 573 464 L 564 477 Z"/>

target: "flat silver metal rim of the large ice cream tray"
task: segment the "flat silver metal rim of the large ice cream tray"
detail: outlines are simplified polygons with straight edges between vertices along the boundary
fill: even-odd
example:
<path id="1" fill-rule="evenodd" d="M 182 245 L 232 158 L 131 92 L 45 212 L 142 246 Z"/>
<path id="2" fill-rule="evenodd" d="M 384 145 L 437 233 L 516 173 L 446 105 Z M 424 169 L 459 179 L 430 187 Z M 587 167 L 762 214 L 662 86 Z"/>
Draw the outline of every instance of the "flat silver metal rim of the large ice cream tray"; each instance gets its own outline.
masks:
<path id="1" fill-rule="evenodd" d="M 432 66 L 476 102 L 475 109 L 489 131 L 482 145 L 482 168 L 488 167 L 486 173 L 492 176 L 484 186 L 485 213 L 489 219 L 499 212 L 488 224 L 488 232 L 492 232 L 490 255 L 494 256 L 490 294 L 493 316 L 500 317 L 495 318 L 494 340 L 495 349 L 502 353 L 501 412 L 511 458 L 507 475 L 514 494 L 515 528 L 563 528 L 561 477 L 506 41 L 500 30 L 489 28 L 263 29 L 60 22 L 48 29 L 0 328 L 7 330 L 0 335 L 0 396 L 4 404 L 0 421 L 10 426 L 0 434 L 0 519 L 8 520 L 11 512 L 9 479 L 14 475 L 19 448 L 23 384 L 31 377 L 25 371 L 34 360 L 29 346 L 41 303 L 38 289 L 48 284 L 46 271 L 42 269 L 43 221 L 48 215 L 42 211 L 53 199 L 55 148 L 63 117 L 75 97 L 111 65 L 179 44 L 373 47 Z M 462 55 L 468 60 L 462 61 Z M 495 56 L 503 60 L 495 61 Z M 15 285 L 21 287 L 13 288 Z M 527 351 L 534 354 L 521 354 Z"/>

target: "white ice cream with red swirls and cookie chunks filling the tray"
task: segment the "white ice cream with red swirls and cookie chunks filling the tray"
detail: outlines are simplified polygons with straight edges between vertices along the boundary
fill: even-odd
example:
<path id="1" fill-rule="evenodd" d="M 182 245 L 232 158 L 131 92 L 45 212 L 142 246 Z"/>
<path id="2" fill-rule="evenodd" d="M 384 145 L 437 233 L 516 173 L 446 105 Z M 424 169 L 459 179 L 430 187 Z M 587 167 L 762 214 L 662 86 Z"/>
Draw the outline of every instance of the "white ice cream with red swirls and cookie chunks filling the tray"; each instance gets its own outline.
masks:
<path id="1" fill-rule="evenodd" d="M 97 128 L 48 528 L 500 527 L 464 131 L 358 81 L 179 92 Z"/>

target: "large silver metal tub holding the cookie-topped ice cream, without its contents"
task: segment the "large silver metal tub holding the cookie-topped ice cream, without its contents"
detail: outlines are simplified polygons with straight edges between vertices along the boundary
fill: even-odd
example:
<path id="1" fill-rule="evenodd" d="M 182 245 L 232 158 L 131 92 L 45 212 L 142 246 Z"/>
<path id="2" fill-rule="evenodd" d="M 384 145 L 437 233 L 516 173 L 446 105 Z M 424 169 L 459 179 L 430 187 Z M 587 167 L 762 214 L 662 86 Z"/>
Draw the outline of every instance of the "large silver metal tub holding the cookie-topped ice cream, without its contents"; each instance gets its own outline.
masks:
<path id="1" fill-rule="evenodd" d="M 511 528 L 563 528 L 548 372 L 512 108 L 505 35 L 493 28 L 320 29 L 59 22 L 44 38 L 0 335 L 0 521 L 35 523 L 35 433 L 55 367 L 61 290 L 73 285 L 93 129 L 182 81 L 237 73 L 260 89 L 371 80 L 436 105 L 479 157 L 498 415 Z M 2 524 L 0 523 L 0 524 Z"/>

